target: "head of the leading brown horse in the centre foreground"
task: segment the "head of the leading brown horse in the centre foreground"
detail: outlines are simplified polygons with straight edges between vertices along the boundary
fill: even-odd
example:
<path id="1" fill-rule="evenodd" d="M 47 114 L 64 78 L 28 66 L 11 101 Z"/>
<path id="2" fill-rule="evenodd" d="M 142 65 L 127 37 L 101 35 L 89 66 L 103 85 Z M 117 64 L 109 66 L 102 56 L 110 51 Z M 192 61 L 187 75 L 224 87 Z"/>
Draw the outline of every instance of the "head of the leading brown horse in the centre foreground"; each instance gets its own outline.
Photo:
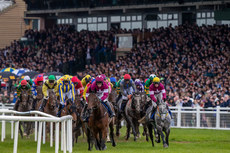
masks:
<path id="1" fill-rule="evenodd" d="M 99 98 L 94 93 L 90 93 L 88 96 L 88 112 L 91 114 L 94 109 L 98 109 L 100 104 Z"/>

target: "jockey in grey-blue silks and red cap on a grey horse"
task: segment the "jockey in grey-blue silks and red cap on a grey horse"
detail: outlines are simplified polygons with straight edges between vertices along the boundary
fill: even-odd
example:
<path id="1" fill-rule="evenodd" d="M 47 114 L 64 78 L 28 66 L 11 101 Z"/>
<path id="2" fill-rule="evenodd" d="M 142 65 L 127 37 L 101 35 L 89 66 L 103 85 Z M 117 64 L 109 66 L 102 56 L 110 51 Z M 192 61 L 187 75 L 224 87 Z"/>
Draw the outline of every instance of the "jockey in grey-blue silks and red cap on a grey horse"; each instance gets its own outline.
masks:
<path id="1" fill-rule="evenodd" d="M 132 95 L 133 92 L 137 92 L 136 85 L 134 81 L 131 79 L 129 74 L 124 75 L 124 79 L 120 82 L 121 95 L 122 95 L 122 104 L 121 104 L 121 112 L 124 111 L 126 103 L 128 102 L 128 95 Z"/>

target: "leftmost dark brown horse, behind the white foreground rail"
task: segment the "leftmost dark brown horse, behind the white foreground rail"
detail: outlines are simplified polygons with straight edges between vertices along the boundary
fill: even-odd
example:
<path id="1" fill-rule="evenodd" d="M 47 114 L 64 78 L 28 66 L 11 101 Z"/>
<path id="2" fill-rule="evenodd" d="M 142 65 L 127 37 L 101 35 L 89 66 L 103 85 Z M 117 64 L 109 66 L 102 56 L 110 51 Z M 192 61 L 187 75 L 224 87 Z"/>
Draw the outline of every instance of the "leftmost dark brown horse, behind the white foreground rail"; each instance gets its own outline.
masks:
<path id="1" fill-rule="evenodd" d="M 29 91 L 22 89 L 20 97 L 21 97 L 21 99 L 19 102 L 18 111 L 19 112 L 30 111 L 32 108 L 32 103 L 31 103 L 31 98 L 29 96 Z M 21 124 L 23 126 L 24 133 L 28 138 L 30 135 L 30 132 L 31 132 L 31 122 L 20 122 L 19 131 L 20 131 L 21 137 L 23 138 L 23 132 L 21 129 Z"/>

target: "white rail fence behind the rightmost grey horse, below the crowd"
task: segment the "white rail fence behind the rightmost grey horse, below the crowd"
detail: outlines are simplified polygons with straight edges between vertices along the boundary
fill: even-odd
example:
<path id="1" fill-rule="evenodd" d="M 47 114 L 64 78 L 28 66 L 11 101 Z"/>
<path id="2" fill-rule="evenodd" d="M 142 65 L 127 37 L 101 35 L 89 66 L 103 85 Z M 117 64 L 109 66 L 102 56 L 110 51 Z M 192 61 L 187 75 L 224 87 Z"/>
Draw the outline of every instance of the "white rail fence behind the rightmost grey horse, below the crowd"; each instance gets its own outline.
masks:
<path id="1" fill-rule="evenodd" d="M 172 127 L 230 130 L 230 108 L 170 107 Z"/>

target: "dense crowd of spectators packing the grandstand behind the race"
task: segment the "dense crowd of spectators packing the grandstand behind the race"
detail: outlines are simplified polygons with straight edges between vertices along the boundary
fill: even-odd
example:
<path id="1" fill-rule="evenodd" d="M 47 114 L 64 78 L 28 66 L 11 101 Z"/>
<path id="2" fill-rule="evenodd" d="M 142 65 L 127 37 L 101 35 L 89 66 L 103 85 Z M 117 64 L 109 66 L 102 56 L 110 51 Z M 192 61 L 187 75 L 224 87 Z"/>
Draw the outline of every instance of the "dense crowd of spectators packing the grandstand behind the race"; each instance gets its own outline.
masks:
<path id="1" fill-rule="evenodd" d="M 148 33 L 116 60 L 117 33 Z M 230 28 L 227 25 L 180 25 L 159 29 L 77 32 L 58 25 L 46 31 L 28 30 L 33 45 L 14 41 L 0 50 L 0 65 L 64 74 L 125 73 L 144 81 L 150 74 L 162 79 L 171 106 L 228 107 L 230 105 Z M 77 72 L 77 73 L 76 73 Z"/>

